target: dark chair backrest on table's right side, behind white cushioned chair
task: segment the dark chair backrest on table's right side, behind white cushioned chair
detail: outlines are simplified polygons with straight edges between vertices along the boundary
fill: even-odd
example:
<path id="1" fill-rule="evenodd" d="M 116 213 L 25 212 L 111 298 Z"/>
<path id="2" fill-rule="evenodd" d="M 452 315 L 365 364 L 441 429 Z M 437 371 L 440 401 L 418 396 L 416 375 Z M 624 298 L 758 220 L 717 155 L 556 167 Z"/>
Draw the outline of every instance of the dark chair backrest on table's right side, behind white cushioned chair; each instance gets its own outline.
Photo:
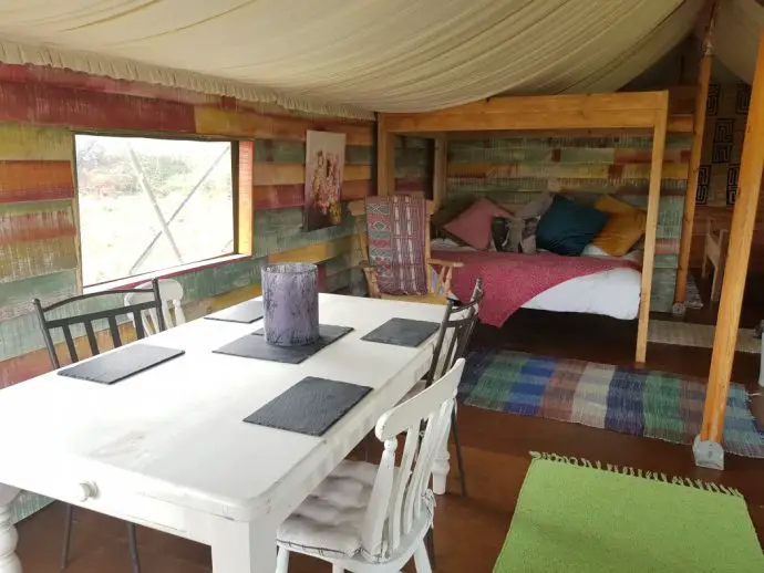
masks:
<path id="1" fill-rule="evenodd" d="M 472 333 L 477 324 L 483 294 L 483 279 L 478 278 L 468 303 L 456 304 L 451 299 L 446 303 L 425 386 L 430 386 L 436 376 L 443 376 L 458 358 L 466 355 Z"/>

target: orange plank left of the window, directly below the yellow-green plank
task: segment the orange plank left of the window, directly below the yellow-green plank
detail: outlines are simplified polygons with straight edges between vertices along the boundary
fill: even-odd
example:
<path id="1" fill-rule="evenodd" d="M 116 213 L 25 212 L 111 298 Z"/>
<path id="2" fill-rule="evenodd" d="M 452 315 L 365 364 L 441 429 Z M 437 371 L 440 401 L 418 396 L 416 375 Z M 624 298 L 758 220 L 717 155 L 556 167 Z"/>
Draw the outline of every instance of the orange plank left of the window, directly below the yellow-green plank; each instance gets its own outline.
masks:
<path id="1" fill-rule="evenodd" d="M 74 180 L 70 162 L 0 162 L 0 202 L 73 197 Z"/>

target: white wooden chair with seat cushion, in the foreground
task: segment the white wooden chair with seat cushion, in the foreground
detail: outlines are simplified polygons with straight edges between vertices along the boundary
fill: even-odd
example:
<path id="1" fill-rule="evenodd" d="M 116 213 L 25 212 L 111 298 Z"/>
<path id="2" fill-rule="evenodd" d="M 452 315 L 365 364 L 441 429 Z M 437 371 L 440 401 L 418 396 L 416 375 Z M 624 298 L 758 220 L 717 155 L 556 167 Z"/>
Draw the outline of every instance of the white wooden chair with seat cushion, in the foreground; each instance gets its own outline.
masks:
<path id="1" fill-rule="evenodd" d="M 333 573 L 399 572 L 412 556 L 417 573 L 431 573 L 425 535 L 435 503 L 430 476 L 448 434 L 463 371 L 460 358 L 442 378 L 380 418 L 375 434 L 384 451 L 379 466 L 343 461 L 281 524 L 277 573 L 287 573 L 292 551 L 330 562 Z M 400 434 L 406 435 L 405 446 L 395 467 Z"/>

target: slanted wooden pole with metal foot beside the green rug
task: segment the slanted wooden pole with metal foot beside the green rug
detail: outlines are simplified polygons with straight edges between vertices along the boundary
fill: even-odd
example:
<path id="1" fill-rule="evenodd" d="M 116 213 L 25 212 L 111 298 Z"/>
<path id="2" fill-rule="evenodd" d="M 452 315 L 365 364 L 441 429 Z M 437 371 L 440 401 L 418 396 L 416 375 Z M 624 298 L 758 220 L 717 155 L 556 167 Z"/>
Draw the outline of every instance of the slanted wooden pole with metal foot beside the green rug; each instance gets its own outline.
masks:
<path id="1" fill-rule="evenodd" d="M 708 451 L 711 448 L 715 449 L 716 452 L 721 450 L 726 397 L 732 375 L 732 363 L 735 357 L 740 310 L 745 290 L 745 275 L 751 256 L 753 228 L 756 222 L 756 207 L 758 205 L 763 168 L 764 34 L 760 38 L 756 70 L 753 76 L 751 93 L 751 106 L 745 124 L 745 138 L 740 163 L 740 177 L 737 179 L 737 200 L 732 213 L 729 258 L 726 269 L 724 270 L 716 332 L 711 354 L 711 371 L 709 373 L 709 387 L 703 409 L 703 426 L 701 427 L 700 442 L 698 440 L 695 442 L 695 462 L 703 466 L 717 467 L 719 469 L 723 468 L 723 456 L 721 460 L 717 456 L 710 459 L 710 457 L 703 456 L 703 449 Z M 711 445 L 708 442 L 711 442 Z"/>

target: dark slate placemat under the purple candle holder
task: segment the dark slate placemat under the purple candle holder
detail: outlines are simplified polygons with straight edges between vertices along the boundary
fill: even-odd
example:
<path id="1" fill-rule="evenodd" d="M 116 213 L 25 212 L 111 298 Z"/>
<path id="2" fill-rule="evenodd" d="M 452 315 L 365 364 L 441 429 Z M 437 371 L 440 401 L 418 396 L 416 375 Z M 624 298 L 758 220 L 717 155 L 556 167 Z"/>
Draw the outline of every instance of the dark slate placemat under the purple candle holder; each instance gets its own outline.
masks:
<path id="1" fill-rule="evenodd" d="M 350 326 L 321 324 L 319 325 L 320 337 L 313 344 L 306 344 L 303 346 L 276 346 L 266 342 L 266 337 L 262 336 L 262 330 L 260 329 L 252 334 L 236 338 L 234 342 L 213 352 L 229 354 L 231 356 L 242 356 L 245 358 L 300 364 L 321 348 L 340 340 L 352 330 L 353 329 Z"/>

